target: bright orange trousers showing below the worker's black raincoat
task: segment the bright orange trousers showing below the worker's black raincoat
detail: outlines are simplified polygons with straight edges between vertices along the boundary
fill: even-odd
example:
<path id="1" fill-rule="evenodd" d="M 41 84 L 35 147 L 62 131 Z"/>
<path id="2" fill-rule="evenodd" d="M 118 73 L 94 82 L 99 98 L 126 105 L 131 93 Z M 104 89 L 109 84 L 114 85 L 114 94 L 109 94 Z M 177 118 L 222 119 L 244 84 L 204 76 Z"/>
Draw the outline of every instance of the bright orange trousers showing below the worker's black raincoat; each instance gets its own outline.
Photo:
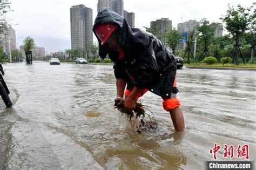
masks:
<path id="1" fill-rule="evenodd" d="M 175 77 L 174 83 L 173 83 L 173 87 L 176 87 L 176 86 L 177 85 L 176 85 L 176 77 Z M 137 100 L 140 97 L 142 97 L 143 94 L 145 94 L 147 91 L 148 91 L 147 89 L 143 90 L 143 92 L 141 94 L 139 94 Z M 131 93 L 131 90 L 126 89 L 125 92 L 124 92 L 124 95 L 126 97 L 128 97 L 130 95 L 130 93 Z M 169 110 L 171 110 L 173 108 L 176 108 L 176 107 L 180 106 L 180 102 L 177 99 L 177 97 L 171 97 L 170 99 L 162 97 L 162 99 L 164 100 L 163 101 L 163 107 L 164 107 L 164 110 L 166 110 L 166 111 L 169 111 Z"/>

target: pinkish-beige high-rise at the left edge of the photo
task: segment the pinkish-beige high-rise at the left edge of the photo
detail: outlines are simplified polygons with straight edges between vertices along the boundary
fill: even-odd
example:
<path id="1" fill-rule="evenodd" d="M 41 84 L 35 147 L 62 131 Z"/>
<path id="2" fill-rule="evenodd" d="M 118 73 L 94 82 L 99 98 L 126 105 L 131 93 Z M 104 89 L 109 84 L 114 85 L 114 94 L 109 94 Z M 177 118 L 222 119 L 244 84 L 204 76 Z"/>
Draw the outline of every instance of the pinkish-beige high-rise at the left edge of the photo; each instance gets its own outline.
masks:
<path id="1" fill-rule="evenodd" d="M 4 52 L 10 54 L 10 49 L 16 50 L 16 32 L 11 26 L 7 26 L 3 33 L 0 33 L 0 44 L 4 47 Z"/>

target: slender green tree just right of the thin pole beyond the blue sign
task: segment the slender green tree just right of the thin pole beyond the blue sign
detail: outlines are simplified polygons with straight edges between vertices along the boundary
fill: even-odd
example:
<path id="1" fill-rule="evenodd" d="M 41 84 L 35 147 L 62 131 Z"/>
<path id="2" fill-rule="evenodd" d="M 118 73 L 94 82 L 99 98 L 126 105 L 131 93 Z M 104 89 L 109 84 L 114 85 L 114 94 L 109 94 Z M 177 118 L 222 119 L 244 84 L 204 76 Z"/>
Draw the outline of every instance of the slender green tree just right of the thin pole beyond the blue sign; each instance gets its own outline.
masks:
<path id="1" fill-rule="evenodd" d="M 206 18 L 203 18 L 199 22 L 199 26 L 197 30 L 199 34 L 199 37 L 198 37 L 199 44 L 203 45 L 203 52 L 201 53 L 199 59 L 201 59 L 201 57 L 205 58 L 207 56 L 211 56 L 208 50 L 208 46 L 210 45 L 213 39 L 215 24 L 214 23 L 210 24 L 210 22 L 207 21 Z"/>

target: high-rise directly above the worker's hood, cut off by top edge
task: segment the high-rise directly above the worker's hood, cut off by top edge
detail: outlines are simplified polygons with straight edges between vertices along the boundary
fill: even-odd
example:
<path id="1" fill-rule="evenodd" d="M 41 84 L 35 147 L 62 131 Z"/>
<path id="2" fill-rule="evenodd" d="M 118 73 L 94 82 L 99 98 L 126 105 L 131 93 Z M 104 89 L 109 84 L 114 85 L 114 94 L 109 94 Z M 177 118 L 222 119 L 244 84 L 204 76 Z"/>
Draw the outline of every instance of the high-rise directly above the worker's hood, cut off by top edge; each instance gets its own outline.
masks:
<path id="1" fill-rule="evenodd" d="M 109 9 L 118 13 L 120 16 L 124 16 L 124 1 L 123 0 L 98 0 L 97 4 L 98 12 L 104 9 Z"/>

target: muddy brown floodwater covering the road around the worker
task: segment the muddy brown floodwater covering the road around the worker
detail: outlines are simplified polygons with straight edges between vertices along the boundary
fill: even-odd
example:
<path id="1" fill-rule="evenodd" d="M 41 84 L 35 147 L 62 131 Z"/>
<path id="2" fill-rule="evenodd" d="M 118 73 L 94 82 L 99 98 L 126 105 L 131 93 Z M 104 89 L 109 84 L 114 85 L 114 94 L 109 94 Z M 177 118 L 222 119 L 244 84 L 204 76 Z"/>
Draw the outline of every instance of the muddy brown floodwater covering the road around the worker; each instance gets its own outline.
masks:
<path id="1" fill-rule="evenodd" d="M 177 72 L 184 132 L 175 132 L 161 98 L 142 102 L 157 128 L 119 130 L 110 65 L 3 65 L 12 108 L 0 100 L 0 169 L 205 169 L 249 145 L 255 161 L 256 72 L 182 69 Z M 149 112 L 149 114 L 151 114 Z M 223 158 L 224 144 L 234 158 Z"/>

